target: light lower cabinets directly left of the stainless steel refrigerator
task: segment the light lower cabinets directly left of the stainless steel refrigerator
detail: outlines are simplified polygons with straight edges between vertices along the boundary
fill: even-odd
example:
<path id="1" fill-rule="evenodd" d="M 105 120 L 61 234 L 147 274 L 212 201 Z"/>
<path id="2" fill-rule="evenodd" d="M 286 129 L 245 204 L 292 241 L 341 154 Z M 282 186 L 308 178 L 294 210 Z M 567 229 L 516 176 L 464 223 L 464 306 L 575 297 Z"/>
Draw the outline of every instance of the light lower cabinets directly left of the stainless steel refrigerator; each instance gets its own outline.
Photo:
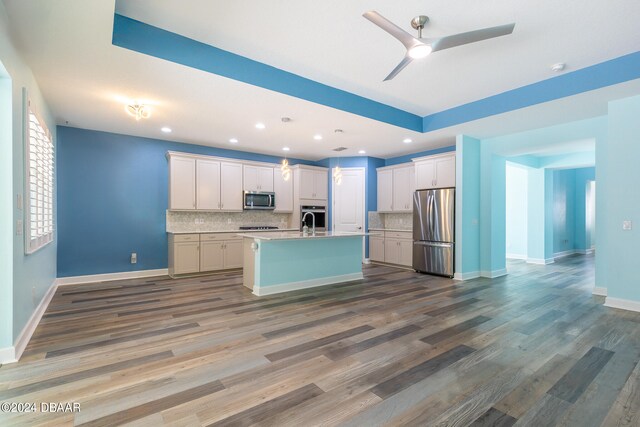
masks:
<path id="1" fill-rule="evenodd" d="M 410 231 L 385 231 L 369 237 L 369 259 L 371 261 L 413 265 L 413 236 Z"/>

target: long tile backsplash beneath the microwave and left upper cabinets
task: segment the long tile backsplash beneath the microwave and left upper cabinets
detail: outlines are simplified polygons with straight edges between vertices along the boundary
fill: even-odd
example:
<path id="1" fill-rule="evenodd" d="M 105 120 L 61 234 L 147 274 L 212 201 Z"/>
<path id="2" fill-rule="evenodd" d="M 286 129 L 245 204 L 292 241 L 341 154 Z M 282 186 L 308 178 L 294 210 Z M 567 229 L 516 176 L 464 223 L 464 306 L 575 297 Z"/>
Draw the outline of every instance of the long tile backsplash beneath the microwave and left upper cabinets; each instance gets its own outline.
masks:
<path id="1" fill-rule="evenodd" d="M 269 225 L 288 228 L 291 214 L 265 211 L 177 212 L 167 211 L 167 232 L 214 232 L 237 230 L 241 225 Z"/>

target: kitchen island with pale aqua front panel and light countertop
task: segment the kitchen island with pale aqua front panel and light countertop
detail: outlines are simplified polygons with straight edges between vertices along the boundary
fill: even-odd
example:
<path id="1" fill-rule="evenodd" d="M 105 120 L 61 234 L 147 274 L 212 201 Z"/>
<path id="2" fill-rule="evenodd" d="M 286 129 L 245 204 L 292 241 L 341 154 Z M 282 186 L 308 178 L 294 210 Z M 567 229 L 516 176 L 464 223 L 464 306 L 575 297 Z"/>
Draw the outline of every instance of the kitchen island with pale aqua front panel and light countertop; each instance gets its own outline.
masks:
<path id="1" fill-rule="evenodd" d="M 244 285 L 255 295 L 362 279 L 366 233 L 242 233 Z"/>

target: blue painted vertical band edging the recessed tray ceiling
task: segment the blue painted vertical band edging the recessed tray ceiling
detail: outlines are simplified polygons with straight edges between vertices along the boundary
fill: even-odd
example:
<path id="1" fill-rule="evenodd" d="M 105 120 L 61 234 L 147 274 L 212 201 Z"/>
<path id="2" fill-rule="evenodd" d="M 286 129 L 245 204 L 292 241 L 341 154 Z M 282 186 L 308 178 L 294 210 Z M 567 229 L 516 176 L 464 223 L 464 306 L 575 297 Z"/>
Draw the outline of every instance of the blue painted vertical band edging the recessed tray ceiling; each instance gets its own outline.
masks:
<path id="1" fill-rule="evenodd" d="M 112 43 L 156 58 L 423 133 L 640 78 L 639 51 L 420 117 L 119 14 L 115 14 L 114 18 Z"/>

